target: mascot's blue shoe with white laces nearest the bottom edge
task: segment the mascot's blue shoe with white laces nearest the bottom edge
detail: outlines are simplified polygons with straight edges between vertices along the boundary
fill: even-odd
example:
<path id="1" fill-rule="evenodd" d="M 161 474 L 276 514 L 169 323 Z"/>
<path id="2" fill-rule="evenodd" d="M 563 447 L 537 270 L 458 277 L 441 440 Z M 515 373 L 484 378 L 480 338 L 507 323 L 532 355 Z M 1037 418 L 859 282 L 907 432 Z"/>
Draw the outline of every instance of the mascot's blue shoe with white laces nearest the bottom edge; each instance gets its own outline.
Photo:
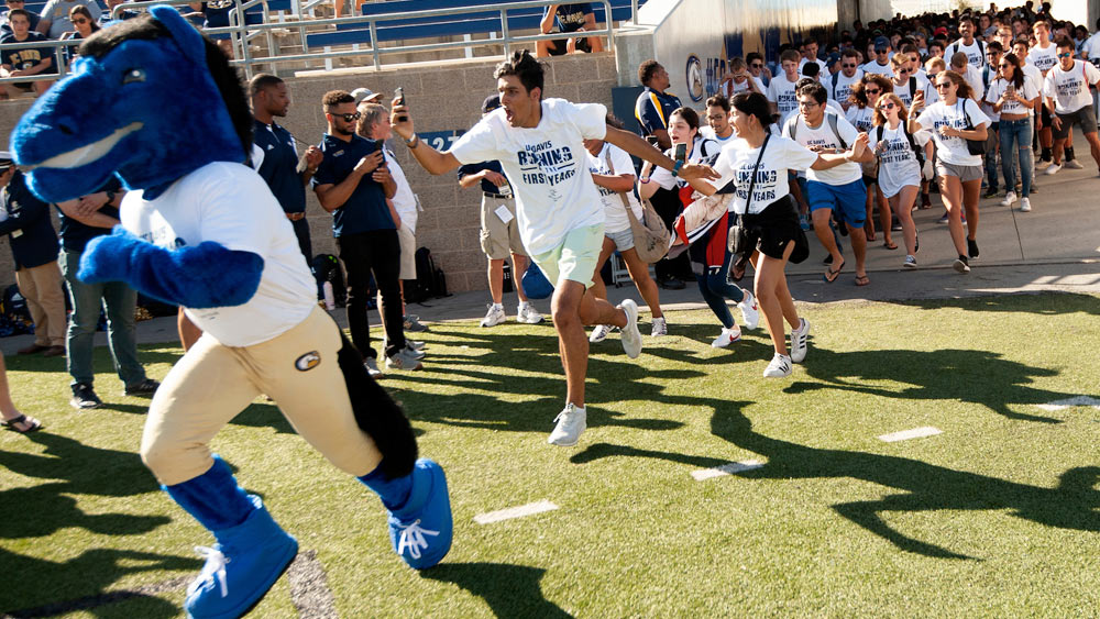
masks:
<path id="1" fill-rule="evenodd" d="M 260 497 L 248 520 L 217 531 L 212 549 L 197 548 L 207 562 L 187 587 L 184 608 L 195 619 L 237 618 L 256 605 L 298 554 L 298 542 L 264 508 Z"/>

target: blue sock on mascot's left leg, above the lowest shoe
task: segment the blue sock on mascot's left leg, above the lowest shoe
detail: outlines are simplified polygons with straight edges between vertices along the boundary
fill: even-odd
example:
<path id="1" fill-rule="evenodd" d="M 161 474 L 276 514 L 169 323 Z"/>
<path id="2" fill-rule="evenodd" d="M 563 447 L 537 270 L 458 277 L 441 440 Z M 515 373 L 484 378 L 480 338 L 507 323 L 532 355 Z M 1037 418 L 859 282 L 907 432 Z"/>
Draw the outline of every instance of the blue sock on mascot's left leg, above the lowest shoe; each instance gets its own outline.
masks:
<path id="1" fill-rule="evenodd" d="M 162 487 L 210 531 L 237 527 L 256 509 L 248 493 L 237 485 L 229 465 L 218 455 L 213 456 L 213 466 L 202 475 Z"/>

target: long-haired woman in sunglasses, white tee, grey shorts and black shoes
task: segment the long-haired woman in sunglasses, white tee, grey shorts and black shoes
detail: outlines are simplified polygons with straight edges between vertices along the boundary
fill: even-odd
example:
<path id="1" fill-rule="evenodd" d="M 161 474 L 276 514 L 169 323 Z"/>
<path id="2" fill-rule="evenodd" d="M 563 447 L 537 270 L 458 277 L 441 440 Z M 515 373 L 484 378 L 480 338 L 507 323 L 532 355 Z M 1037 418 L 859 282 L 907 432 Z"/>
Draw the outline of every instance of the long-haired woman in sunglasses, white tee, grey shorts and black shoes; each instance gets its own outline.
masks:
<path id="1" fill-rule="evenodd" d="M 932 131 L 939 194 L 947 207 L 947 228 L 958 252 L 952 266 L 959 273 L 970 273 L 970 261 L 978 257 L 978 192 L 982 169 L 981 155 L 970 154 L 967 141 L 986 141 L 989 118 L 974 100 L 966 78 L 958 73 L 947 70 L 937 75 L 936 91 L 939 101 L 927 109 L 923 92 L 913 99 L 909 132 L 916 133 L 925 126 Z M 966 244 L 963 243 L 963 209 L 966 209 Z"/>

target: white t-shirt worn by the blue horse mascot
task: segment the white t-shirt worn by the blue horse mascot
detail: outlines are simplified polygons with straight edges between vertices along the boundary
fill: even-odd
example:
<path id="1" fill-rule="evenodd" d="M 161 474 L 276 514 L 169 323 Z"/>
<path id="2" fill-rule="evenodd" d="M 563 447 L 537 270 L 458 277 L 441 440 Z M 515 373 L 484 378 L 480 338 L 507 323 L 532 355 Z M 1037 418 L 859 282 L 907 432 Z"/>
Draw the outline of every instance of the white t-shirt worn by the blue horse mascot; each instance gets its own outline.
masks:
<path id="1" fill-rule="evenodd" d="M 194 247 L 212 241 L 264 259 L 260 288 L 241 306 L 191 309 L 187 317 L 227 346 L 251 346 L 305 320 L 317 306 L 317 283 L 298 248 L 290 220 L 256 172 L 215 162 L 174 183 L 155 200 L 130 191 L 121 221 L 160 247 Z"/>

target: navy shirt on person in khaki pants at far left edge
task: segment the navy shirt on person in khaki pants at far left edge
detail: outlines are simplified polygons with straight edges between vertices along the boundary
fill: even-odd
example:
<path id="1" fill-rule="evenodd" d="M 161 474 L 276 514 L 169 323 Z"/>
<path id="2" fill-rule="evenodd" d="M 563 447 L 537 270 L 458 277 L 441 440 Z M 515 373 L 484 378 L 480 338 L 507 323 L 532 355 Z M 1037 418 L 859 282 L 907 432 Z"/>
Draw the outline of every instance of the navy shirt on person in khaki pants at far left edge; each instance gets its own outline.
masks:
<path id="1" fill-rule="evenodd" d="M 0 234 L 10 235 L 15 270 L 57 259 L 57 233 L 50 221 L 50 205 L 31 194 L 23 173 L 16 172 L 0 191 L 0 208 L 8 211 L 8 219 L 0 221 Z"/>

